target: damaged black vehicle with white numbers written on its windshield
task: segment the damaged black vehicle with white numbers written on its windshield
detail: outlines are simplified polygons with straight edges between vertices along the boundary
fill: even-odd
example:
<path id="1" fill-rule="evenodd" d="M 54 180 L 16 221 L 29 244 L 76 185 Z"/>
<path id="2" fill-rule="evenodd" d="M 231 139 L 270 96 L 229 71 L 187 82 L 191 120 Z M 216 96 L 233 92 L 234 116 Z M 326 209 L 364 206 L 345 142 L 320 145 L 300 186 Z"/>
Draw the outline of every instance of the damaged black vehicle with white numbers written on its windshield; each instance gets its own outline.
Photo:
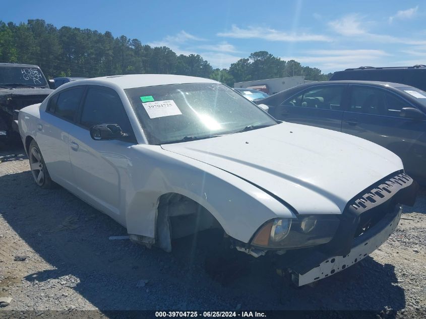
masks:
<path id="1" fill-rule="evenodd" d="M 18 113 L 53 90 L 38 66 L 0 63 L 0 142 L 19 140 Z"/>

